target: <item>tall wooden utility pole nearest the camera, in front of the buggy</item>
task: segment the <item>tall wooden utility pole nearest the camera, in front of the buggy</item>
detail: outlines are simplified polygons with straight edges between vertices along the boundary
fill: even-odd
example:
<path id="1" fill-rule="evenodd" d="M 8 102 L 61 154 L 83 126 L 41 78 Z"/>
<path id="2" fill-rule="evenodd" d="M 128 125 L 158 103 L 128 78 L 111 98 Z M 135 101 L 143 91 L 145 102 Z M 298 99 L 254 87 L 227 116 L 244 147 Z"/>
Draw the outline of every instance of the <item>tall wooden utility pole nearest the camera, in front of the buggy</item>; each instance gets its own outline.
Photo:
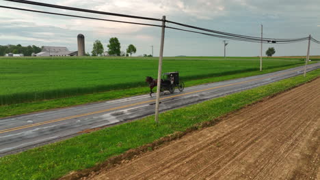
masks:
<path id="1" fill-rule="evenodd" d="M 165 33 L 165 16 L 162 16 L 161 44 L 160 44 L 160 53 L 159 53 L 157 97 L 156 97 L 157 99 L 156 99 L 156 107 L 155 107 L 155 121 L 156 121 L 156 123 L 159 123 L 159 100 L 160 100 L 160 86 L 161 86 L 161 72 L 162 72 L 164 33 Z"/>

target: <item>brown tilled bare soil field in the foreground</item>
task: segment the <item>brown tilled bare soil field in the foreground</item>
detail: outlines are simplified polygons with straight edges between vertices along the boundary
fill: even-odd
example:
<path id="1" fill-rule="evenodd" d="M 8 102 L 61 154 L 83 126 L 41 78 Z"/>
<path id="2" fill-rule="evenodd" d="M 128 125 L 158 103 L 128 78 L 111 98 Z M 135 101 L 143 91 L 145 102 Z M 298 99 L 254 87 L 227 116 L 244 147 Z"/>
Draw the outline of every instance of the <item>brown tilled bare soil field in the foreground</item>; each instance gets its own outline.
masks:
<path id="1" fill-rule="evenodd" d="M 320 78 L 83 179 L 320 179 Z"/>

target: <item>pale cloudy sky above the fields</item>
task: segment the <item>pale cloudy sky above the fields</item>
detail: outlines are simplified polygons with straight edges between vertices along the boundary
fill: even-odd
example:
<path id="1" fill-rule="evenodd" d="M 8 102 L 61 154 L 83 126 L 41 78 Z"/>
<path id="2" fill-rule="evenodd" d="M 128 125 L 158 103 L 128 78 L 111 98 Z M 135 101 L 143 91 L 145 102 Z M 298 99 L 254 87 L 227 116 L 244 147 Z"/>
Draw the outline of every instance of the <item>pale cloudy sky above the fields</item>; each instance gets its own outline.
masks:
<path id="1" fill-rule="evenodd" d="M 131 14 L 177 21 L 207 29 L 273 38 L 298 38 L 309 34 L 320 40 L 319 0 L 34 0 L 43 3 L 67 5 L 90 10 Z M 58 12 L 114 20 L 130 20 L 141 23 L 155 23 L 147 20 L 119 18 L 49 7 L 23 5 L 0 1 L 0 5 L 23 7 L 46 12 Z M 170 25 L 169 26 L 173 26 Z M 161 29 L 111 23 L 99 20 L 85 20 L 49 14 L 37 14 L 0 8 L 0 44 L 22 44 L 36 46 L 66 46 L 77 50 L 77 34 L 85 35 L 85 50 L 91 52 L 94 40 L 101 40 L 105 50 L 110 37 L 118 37 L 122 50 L 129 44 L 137 47 L 137 55 L 159 55 Z M 260 44 L 228 40 L 227 56 L 258 56 Z M 307 42 L 296 44 L 264 44 L 276 48 L 276 56 L 306 55 Z M 311 44 L 311 55 L 320 55 L 320 44 Z M 223 56 L 223 39 L 173 29 L 165 31 L 165 56 Z"/>

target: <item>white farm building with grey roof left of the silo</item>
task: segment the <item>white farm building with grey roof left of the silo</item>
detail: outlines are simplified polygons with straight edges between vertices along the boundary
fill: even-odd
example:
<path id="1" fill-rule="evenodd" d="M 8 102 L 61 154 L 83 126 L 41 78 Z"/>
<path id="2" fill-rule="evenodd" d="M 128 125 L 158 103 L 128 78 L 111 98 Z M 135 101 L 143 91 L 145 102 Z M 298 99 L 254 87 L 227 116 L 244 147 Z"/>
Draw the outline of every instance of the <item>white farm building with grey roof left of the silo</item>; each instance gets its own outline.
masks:
<path id="1" fill-rule="evenodd" d="M 78 51 L 70 51 L 66 47 L 42 46 L 36 57 L 77 56 Z"/>

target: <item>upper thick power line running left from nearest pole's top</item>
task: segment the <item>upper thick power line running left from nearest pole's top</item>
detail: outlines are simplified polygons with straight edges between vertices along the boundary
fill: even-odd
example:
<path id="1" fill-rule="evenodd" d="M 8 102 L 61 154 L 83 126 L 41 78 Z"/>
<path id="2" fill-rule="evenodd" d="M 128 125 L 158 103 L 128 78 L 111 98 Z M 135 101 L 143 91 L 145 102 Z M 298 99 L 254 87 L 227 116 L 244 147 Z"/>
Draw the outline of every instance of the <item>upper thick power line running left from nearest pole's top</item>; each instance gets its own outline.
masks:
<path id="1" fill-rule="evenodd" d="M 88 12 L 88 13 L 93 13 L 93 14 L 104 14 L 104 15 L 109 15 L 109 16 L 120 16 L 120 17 L 125 17 L 125 18 L 138 18 L 138 19 L 144 19 L 144 20 L 162 21 L 161 19 L 157 19 L 157 18 L 148 18 L 148 17 L 143 17 L 143 16 L 132 16 L 132 15 L 127 15 L 127 14 L 117 14 L 117 13 L 111 13 L 111 12 L 101 12 L 101 11 L 96 11 L 96 10 L 85 10 L 85 9 L 81 9 L 81 8 L 77 8 L 77 7 L 53 5 L 53 4 L 49 4 L 49 3 L 39 3 L 39 2 L 34 2 L 34 1 L 25 1 L 25 0 L 4 0 L 4 1 L 24 3 L 24 4 L 29 4 L 29 5 L 40 5 L 40 6 L 44 6 L 44 7 L 53 7 L 53 8 L 58 8 L 58 9 L 62 9 L 62 10 Z"/>

